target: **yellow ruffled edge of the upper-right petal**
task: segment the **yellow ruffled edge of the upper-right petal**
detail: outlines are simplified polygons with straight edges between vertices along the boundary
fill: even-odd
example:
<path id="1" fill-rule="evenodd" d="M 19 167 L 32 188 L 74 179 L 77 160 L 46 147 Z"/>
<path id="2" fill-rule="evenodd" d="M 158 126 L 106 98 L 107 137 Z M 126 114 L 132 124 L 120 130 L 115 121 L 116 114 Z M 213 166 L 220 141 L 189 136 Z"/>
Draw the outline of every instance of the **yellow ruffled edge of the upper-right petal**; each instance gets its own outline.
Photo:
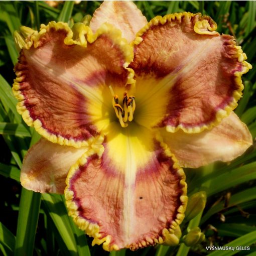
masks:
<path id="1" fill-rule="evenodd" d="M 159 24 L 164 25 L 167 22 L 175 22 L 176 24 L 181 24 L 181 19 L 184 17 L 185 23 L 190 23 L 193 19 L 194 23 L 194 31 L 201 35 L 212 35 L 212 36 L 220 36 L 218 32 L 215 32 L 217 29 L 217 24 L 208 16 L 202 16 L 200 13 L 198 14 L 192 14 L 192 13 L 175 13 L 175 14 L 168 14 L 164 17 L 157 16 L 154 19 L 152 19 L 144 28 L 142 28 L 136 35 L 136 39 L 131 43 L 134 47 L 135 45 L 139 45 L 142 41 L 142 35 L 147 32 L 152 26 L 157 26 Z M 235 84 L 238 86 L 238 90 L 233 92 L 233 100 L 229 103 L 224 109 L 220 109 L 216 112 L 215 120 L 212 121 L 209 124 L 205 124 L 202 126 L 196 126 L 196 127 L 190 127 L 186 128 L 182 124 L 179 124 L 178 126 L 166 126 L 166 131 L 170 133 L 175 133 L 178 130 L 183 130 L 185 133 L 189 134 L 195 134 L 200 133 L 204 131 L 205 129 L 211 130 L 212 127 L 218 125 L 220 121 L 228 116 L 231 111 L 233 111 L 237 107 L 237 101 L 242 96 L 242 90 L 244 88 L 242 84 L 241 76 L 249 71 L 249 69 L 252 68 L 252 66 L 246 62 L 247 59 L 246 54 L 242 52 L 241 46 L 234 45 L 234 48 L 236 49 L 237 56 L 234 58 L 237 58 L 237 60 L 242 64 L 242 71 L 236 71 L 234 73 L 235 76 Z"/>

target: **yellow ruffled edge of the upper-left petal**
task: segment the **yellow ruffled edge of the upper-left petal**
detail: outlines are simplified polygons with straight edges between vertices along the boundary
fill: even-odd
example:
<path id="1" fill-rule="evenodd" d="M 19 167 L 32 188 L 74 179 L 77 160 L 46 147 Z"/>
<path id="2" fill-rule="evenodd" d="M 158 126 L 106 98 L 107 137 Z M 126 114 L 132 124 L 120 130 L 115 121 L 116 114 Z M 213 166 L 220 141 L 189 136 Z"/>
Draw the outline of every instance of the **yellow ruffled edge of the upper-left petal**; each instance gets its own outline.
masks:
<path id="1" fill-rule="evenodd" d="M 63 22 L 50 22 L 47 26 L 42 24 L 40 31 L 32 30 L 28 27 L 21 27 L 21 31 L 15 32 L 15 42 L 16 46 L 19 50 L 27 49 L 29 50 L 31 47 L 37 48 L 40 46 L 41 37 L 49 32 L 50 29 L 54 28 L 56 31 L 65 30 L 67 32 L 67 36 L 64 39 L 64 44 L 66 45 L 80 45 L 81 47 L 86 48 L 87 42 L 93 43 L 96 39 L 102 35 L 106 34 L 113 41 L 114 44 L 118 45 L 120 50 L 124 55 L 123 68 L 128 71 L 127 75 L 127 84 L 135 84 L 134 80 L 134 70 L 131 68 L 127 68 L 129 63 L 133 60 L 134 53 L 133 48 L 130 44 L 127 43 L 126 39 L 121 38 L 121 31 L 115 29 L 110 24 L 102 24 L 102 26 L 96 31 L 95 34 L 92 33 L 91 29 L 88 26 L 85 26 L 83 23 L 77 23 L 73 26 L 72 29 L 69 28 L 67 23 Z M 42 126 L 42 122 L 39 119 L 33 120 L 30 116 L 29 110 L 25 106 L 25 97 L 21 93 L 20 83 L 24 81 L 24 77 L 21 71 L 16 72 L 16 79 L 13 84 L 13 93 L 15 97 L 18 99 L 17 110 L 22 115 L 24 121 L 32 127 L 35 127 L 35 130 L 46 138 L 48 141 L 52 143 L 58 143 L 60 145 L 73 146 L 75 148 L 80 148 L 83 146 L 88 146 L 92 143 L 95 143 L 99 140 L 99 137 L 90 138 L 86 141 L 75 141 L 73 139 L 66 139 L 61 135 L 54 135 L 49 133 Z"/>

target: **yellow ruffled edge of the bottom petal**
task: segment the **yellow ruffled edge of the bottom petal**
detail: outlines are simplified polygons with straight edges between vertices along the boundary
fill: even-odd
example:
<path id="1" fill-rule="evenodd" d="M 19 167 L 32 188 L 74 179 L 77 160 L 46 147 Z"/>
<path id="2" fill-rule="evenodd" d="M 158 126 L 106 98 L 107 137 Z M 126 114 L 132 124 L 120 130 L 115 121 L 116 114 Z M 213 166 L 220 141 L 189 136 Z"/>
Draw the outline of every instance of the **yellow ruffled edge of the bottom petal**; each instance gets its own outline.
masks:
<path id="1" fill-rule="evenodd" d="M 179 225 L 183 221 L 185 217 L 185 211 L 187 207 L 188 197 L 187 197 L 187 183 L 185 182 L 186 176 L 181 167 L 178 165 L 178 161 L 175 158 L 175 156 L 170 152 L 167 144 L 163 142 L 163 139 L 160 137 L 160 135 L 157 135 L 156 137 L 157 141 L 160 142 L 161 147 L 164 150 L 164 153 L 166 156 L 170 157 L 172 161 L 174 162 L 173 168 L 176 169 L 176 173 L 180 177 L 180 187 L 182 191 L 182 195 L 180 196 L 180 202 L 181 205 L 177 209 L 177 215 L 176 219 L 172 221 L 170 227 L 164 228 L 162 230 L 162 236 L 159 236 L 158 238 L 154 238 L 154 240 L 150 237 L 145 238 L 145 240 L 140 240 L 137 244 L 130 245 L 131 250 L 136 250 L 145 246 L 157 244 L 157 243 L 164 243 L 165 245 L 177 245 L 179 243 L 179 238 L 181 236 L 181 231 Z M 74 222 L 78 225 L 78 227 L 85 231 L 86 234 L 89 236 L 94 237 L 92 241 L 92 245 L 95 244 L 102 244 L 102 247 L 104 250 L 112 251 L 112 250 L 119 250 L 120 248 L 116 244 L 112 244 L 110 246 L 110 243 L 112 241 L 112 236 L 107 235 L 103 238 L 100 234 L 100 227 L 97 224 L 90 223 L 89 221 L 85 220 L 84 218 L 79 216 L 78 212 L 78 206 L 73 201 L 74 192 L 70 190 L 70 180 L 72 179 L 73 175 L 76 173 L 76 171 L 79 169 L 80 166 L 83 166 L 87 163 L 87 158 L 97 154 L 100 158 L 104 152 L 104 147 L 102 145 L 94 145 L 92 149 L 87 151 L 78 161 L 75 165 L 73 165 L 68 172 L 66 184 L 67 187 L 65 189 L 65 198 L 66 198 L 66 205 L 68 209 L 68 214 L 71 216 L 74 220 Z"/>

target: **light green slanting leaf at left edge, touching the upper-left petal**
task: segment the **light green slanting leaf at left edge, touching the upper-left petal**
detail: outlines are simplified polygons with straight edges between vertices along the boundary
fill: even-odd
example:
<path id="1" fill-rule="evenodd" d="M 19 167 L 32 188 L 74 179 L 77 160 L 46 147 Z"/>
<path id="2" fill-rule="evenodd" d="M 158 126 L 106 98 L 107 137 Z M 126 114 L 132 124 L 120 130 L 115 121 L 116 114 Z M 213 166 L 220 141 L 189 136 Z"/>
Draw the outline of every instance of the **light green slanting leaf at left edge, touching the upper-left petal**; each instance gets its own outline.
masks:
<path id="1" fill-rule="evenodd" d="M 14 97 L 11 86 L 0 74 L 0 100 L 2 101 L 6 112 L 11 121 L 21 122 L 21 115 L 17 112 L 17 99 Z"/>

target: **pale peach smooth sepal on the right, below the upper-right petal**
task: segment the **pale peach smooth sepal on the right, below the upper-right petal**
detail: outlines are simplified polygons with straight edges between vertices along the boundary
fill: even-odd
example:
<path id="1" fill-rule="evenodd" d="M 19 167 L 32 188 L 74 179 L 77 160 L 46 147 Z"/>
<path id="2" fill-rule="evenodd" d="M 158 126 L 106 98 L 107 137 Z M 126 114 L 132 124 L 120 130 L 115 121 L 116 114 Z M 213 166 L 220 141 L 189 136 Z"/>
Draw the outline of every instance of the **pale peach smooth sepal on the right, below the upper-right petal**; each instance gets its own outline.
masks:
<path id="1" fill-rule="evenodd" d="M 165 129 L 161 130 L 164 141 L 183 167 L 197 168 L 214 161 L 228 162 L 252 145 L 246 125 L 234 112 L 223 118 L 212 130 L 199 134 L 186 134 L 181 130 L 168 133 Z"/>

